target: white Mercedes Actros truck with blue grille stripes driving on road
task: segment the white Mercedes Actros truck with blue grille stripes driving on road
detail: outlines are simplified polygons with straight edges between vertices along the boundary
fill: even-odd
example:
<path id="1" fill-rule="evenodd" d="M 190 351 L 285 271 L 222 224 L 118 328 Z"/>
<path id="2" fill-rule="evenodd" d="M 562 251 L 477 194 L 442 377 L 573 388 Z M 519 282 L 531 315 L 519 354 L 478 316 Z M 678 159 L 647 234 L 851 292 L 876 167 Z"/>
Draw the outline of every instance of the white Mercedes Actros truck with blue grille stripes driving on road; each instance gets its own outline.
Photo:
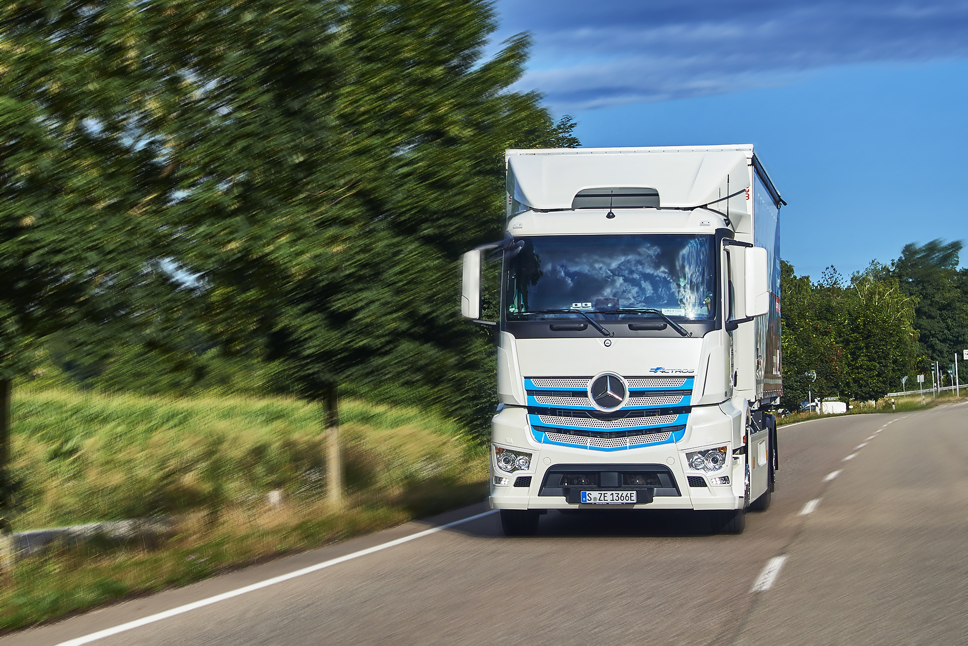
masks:
<path id="1" fill-rule="evenodd" d="M 508 150 L 507 226 L 464 254 L 496 327 L 492 508 L 697 510 L 740 533 L 779 466 L 779 209 L 751 145 Z M 501 260 L 497 320 L 481 271 Z"/>

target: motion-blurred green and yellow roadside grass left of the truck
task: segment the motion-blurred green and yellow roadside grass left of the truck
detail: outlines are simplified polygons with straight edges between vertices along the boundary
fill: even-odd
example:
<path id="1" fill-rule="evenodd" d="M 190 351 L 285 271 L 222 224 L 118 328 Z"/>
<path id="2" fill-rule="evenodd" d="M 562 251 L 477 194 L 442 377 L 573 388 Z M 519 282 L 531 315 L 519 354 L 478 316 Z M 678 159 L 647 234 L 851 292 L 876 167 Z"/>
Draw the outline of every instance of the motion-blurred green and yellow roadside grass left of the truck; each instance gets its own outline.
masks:
<path id="1" fill-rule="evenodd" d="M 15 530 L 164 514 L 154 543 L 52 546 L 0 585 L 0 628 L 181 585 L 487 494 L 486 451 L 415 408 L 341 406 L 346 504 L 325 502 L 321 411 L 284 397 L 15 391 Z M 266 496 L 281 489 L 284 503 Z"/>

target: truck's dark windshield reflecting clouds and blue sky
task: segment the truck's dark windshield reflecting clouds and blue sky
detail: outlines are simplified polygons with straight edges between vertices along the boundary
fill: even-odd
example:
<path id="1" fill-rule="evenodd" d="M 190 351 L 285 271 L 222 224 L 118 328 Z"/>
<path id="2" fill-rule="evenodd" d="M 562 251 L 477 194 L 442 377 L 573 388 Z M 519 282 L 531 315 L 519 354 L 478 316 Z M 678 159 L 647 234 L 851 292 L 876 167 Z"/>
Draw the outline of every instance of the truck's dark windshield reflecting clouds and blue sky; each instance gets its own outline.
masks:
<path id="1" fill-rule="evenodd" d="M 634 316 L 658 309 L 672 318 L 715 316 L 712 235 L 571 235 L 520 239 L 505 264 L 504 313 L 509 321 L 578 309 Z M 541 313 L 544 312 L 544 313 Z M 561 312 L 576 316 L 575 312 Z M 642 313 L 643 316 L 649 316 Z"/>

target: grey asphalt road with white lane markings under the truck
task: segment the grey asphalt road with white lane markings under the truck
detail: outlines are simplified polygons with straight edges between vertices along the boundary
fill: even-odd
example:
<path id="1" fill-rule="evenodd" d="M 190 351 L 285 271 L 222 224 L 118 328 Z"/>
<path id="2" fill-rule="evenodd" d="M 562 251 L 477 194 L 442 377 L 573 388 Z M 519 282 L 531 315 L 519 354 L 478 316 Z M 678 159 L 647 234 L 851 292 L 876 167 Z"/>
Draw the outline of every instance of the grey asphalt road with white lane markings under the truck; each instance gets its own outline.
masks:
<path id="1" fill-rule="evenodd" d="M 741 536 L 710 536 L 691 514 L 551 512 L 538 536 L 508 539 L 488 514 L 92 643 L 968 644 L 966 423 L 968 403 L 781 427 L 772 506 L 747 514 Z M 0 645 L 65 642 L 482 512 L 119 603 Z"/>

